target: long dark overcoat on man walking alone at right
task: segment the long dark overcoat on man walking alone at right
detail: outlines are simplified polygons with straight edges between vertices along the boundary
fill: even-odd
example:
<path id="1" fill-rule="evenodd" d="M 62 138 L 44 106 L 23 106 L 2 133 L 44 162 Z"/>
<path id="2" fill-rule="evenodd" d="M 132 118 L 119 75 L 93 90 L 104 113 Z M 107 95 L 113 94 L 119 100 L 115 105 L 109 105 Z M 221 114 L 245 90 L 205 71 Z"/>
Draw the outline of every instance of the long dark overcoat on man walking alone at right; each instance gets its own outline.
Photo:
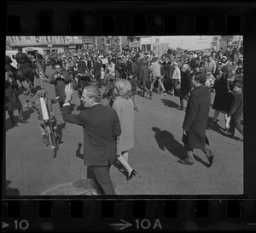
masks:
<path id="1" fill-rule="evenodd" d="M 188 146 L 193 149 L 206 147 L 206 128 L 211 105 L 211 94 L 203 85 L 191 91 L 183 130 L 188 134 Z"/>

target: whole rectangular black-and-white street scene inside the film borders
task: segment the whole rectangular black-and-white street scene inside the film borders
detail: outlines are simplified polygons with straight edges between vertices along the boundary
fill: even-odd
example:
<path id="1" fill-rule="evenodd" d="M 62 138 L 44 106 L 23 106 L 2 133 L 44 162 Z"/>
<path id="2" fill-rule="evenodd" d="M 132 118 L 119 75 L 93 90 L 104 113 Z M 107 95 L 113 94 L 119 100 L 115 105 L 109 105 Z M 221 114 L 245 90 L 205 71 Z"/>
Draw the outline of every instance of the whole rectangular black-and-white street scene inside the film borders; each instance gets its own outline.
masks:
<path id="1" fill-rule="evenodd" d="M 243 37 L 8 36 L 6 196 L 243 195 Z"/>

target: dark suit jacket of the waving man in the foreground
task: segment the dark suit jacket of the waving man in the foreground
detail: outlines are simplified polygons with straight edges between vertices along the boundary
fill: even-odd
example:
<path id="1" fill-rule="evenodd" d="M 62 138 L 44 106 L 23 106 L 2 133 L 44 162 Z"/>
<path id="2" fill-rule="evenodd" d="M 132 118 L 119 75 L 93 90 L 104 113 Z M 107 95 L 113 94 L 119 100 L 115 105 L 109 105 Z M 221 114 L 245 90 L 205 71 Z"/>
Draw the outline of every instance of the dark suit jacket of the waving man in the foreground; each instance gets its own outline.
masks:
<path id="1" fill-rule="evenodd" d="M 84 128 L 84 165 L 108 166 L 108 162 L 115 161 L 116 139 L 121 134 L 116 111 L 97 104 L 74 115 L 71 107 L 66 105 L 62 108 L 62 117 L 64 121 Z"/>

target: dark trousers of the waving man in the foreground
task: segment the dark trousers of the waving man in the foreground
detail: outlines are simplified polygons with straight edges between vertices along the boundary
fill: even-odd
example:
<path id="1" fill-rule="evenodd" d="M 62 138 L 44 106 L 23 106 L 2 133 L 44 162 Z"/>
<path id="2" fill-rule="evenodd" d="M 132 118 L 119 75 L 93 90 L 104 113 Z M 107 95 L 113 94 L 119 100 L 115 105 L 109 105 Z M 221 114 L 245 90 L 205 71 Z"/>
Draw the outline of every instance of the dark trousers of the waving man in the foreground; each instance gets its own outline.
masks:
<path id="1" fill-rule="evenodd" d="M 105 195 L 114 195 L 112 181 L 109 175 L 110 166 L 91 166 L 97 183 L 102 187 Z"/>

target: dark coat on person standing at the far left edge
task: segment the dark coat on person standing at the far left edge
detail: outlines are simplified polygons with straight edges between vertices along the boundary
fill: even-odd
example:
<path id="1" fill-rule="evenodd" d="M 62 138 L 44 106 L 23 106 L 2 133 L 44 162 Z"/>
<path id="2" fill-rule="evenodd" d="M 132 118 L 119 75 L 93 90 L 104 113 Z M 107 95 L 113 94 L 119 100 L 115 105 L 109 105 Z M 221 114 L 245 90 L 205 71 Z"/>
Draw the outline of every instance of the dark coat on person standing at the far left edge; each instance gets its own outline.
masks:
<path id="1" fill-rule="evenodd" d="M 15 89 L 18 88 L 18 84 L 15 81 L 15 78 L 11 77 L 11 79 L 12 84 L 5 81 L 5 111 L 15 111 L 22 107 L 18 94 L 15 91 Z"/>

